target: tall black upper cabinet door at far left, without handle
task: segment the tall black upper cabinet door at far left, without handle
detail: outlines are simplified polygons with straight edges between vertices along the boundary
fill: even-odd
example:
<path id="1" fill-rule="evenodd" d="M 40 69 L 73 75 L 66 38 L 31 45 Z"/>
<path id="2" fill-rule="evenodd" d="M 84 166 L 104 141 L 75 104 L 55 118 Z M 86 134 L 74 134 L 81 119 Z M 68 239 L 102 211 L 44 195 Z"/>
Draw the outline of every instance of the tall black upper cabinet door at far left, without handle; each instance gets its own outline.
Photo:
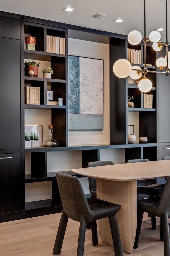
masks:
<path id="1" fill-rule="evenodd" d="M 20 146 L 20 41 L 0 37 L 0 149 Z"/>

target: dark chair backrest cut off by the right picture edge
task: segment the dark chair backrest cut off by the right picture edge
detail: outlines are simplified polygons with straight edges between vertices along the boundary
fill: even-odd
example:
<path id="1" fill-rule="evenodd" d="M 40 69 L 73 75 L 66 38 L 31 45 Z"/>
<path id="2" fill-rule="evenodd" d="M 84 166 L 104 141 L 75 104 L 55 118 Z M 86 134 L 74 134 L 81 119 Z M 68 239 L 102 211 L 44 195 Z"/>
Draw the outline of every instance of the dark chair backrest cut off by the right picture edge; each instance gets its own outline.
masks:
<path id="1" fill-rule="evenodd" d="M 164 213 L 167 213 L 168 218 L 170 218 L 169 198 L 170 198 L 170 176 L 167 178 L 165 182 L 165 186 L 160 196 L 158 207 L 155 210 L 156 216 L 161 218 Z"/>

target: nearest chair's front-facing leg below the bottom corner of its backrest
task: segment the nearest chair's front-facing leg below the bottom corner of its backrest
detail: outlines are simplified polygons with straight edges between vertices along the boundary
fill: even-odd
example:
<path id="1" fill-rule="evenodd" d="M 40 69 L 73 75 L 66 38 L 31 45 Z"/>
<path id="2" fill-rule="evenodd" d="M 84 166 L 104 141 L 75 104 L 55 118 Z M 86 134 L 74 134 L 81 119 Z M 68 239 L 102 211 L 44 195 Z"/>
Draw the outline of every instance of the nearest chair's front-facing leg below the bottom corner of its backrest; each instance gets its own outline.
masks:
<path id="1" fill-rule="evenodd" d="M 81 217 L 80 218 L 78 247 L 77 247 L 77 256 L 83 256 L 85 234 L 86 234 L 86 221 L 83 217 Z"/>

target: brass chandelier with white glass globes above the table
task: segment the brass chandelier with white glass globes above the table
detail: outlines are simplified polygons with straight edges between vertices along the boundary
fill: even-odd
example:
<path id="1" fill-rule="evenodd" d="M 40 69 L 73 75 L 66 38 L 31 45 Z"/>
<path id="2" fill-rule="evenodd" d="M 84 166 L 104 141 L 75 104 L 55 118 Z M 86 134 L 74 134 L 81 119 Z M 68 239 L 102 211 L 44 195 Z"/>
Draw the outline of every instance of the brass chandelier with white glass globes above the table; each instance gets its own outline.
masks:
<path id="1" fill-rule="evenodd" d="M 118 59 L 114 65 L 113 65 L 113 72 L 114 74 L 119 78 L 126 78 L 130 76 L 132 79 L 139 79 L 142 74 L 144 75 L 144 78 L 141 79 L 138 83 L 138 88 L 143 93 L 146 93 L 152 89 L 152 82 L 150 79 L 146 77 L 147 73 L 161 73 L 165 75 L 170 75 L 170 72 L 168 68 L 170 69 L 170 51 L 168 52 L 168 25 L 167 25 L 167 0 L 166 1 L 166 41 L 160 42 L 161 35 L 159 31 L 152 31 L 149 34 L 149 38 L 146 37 L 146 12 L 145 12 L 145 0 L 144 0 L 144 37 L 142 38 L 142 35 L 139 31 L 133 30 L 128 34 L 128 42 L 131 45 L 138 45 L 141 43 L 141 41 L 144 42 L 144 68 L 141 69 L 139 66 L 133 66 L 127 59 Z M 163 46 L 166 47 L 166 56 L 165 58 L 158 58 L 156 61 L 156 66 L 160 68 L 160 71 L 152 71 L 148 70 L 146 67 L 146 43 L 152 42 L 152 48 L 155 51 L 162 50 Z M 168 61 L 169 58 L 169 61 Z M 166 71 L 163 72 L 163 68 L 166 67 Z"/>

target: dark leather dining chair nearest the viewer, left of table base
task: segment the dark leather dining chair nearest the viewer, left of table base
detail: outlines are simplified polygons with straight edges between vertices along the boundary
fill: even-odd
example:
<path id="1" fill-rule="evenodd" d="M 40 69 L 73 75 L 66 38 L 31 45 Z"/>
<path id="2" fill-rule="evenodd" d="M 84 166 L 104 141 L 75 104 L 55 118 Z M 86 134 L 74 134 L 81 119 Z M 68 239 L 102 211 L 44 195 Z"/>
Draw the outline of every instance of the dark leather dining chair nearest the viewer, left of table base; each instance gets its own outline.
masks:
<path id="1" fill-rule="evenodd" d="M 108 217 L 113 239 L 114 253 L 116 256 L 123 256 L 116 218 L 116 213 L 121 209 L 121 205 L 105 202 L 96 198 L 86 199 L 82 185 L 79 179 L 75 176 L 57 173 L 56 178 L 63 210 L 58 226 L 56 241 L 54 243 L 53 254 L 61 253 L 68 218 L 80 222 L 77 256 L 83 256 L 86 223 L 91 222 L 92 244 L 95 246 L 98 243 L 96 220 Z"/>

